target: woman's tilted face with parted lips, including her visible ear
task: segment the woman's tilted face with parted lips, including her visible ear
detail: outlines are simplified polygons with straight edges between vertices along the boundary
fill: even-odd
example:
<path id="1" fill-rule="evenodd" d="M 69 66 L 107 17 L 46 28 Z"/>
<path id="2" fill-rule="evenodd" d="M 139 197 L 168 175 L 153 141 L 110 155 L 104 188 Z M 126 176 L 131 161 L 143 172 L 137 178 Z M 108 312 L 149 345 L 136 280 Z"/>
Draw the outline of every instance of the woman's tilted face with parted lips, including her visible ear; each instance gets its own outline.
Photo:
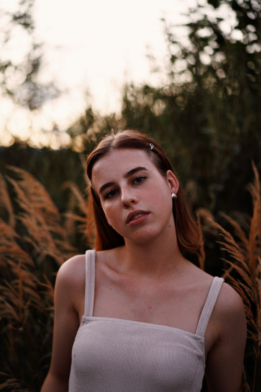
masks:
<path id="1" fill-rule="evenodd" d="M 146 243 L 174 227 L 171 193 L 178 180 L 170 170 L 166 176 L 141 149 L 113 150 L 94 163 L 92 183 L 104 214 L 125 239 Z"/>

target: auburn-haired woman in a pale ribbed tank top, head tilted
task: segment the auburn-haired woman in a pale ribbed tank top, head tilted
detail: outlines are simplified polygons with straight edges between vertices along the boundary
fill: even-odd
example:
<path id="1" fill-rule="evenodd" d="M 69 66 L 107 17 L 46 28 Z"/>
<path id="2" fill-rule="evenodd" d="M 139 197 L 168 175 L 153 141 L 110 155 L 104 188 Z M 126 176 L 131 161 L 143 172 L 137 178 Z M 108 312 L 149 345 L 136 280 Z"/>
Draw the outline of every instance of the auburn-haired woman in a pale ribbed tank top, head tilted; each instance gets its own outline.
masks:
<path id="1" fill-rule="evenodd" d="M 120 131 L 86 171 L 96 251 L 59 269 L 41 392 L 199 392 L 204 370 L 209 391 L 241 391 L 243 303 L 182 256 L 200 236 L 162 148 Z"/>

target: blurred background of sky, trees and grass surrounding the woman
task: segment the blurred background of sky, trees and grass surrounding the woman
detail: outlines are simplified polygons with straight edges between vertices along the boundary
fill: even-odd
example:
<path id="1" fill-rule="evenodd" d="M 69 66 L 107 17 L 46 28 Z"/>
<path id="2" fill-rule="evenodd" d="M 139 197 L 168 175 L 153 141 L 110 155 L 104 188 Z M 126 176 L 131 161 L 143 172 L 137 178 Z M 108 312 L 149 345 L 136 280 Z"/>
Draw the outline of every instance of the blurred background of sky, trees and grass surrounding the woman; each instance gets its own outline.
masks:
<path id="1" fill-rule="evenodd" d="M 85 158 L 133 128 L 187 191 L 205 247 L 186 256 L 247 293 L 245 390 L 260 390 L 260 0 L 2 0 L 0 45 L 0 389 L 40 389 L 56 272 L 91 247 Z"/>

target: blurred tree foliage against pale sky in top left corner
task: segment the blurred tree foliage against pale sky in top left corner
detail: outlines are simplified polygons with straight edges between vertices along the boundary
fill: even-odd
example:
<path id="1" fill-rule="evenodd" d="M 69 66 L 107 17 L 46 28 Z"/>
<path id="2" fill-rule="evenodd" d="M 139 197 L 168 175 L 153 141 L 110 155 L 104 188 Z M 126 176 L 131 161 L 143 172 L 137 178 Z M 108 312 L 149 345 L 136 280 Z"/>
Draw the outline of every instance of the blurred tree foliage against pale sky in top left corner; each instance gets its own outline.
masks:
<path id="1" fill-rule="evenodd" d="M 37 78 L 43 52 L 42 44 L 36 42 L 33 35 L 33 5 L 34 0 L 20 0 L 16 11 L 2 10 L 0 15 L 5 28 L 1 37 L 0 92 L 29 110 L 38 109 L 59 94 L 54 83 L 43 84 Z M 21 45 L 16 44 L 18 36 L 23 39 L 23 51 Z M 22 51 L 20 56 L 17 56 L 18 51 Z"/>

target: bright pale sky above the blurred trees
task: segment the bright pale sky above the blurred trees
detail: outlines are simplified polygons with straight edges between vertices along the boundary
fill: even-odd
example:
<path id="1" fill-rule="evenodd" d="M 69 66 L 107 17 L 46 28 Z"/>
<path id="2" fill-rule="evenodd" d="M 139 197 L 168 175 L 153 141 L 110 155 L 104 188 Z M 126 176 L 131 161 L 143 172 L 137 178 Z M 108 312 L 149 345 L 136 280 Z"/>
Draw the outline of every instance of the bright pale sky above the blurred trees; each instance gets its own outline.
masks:
<path id="1" fill-rule="evenodd" d="M 161 85 L 166 79 L 168 23 L 184 24 L 182 15 L 196 2 L 204 0 L 35 0 L 34 38 L 43 43 L 43 62 L 39 81 L 54 82 L 62 94 L 49 100 L 41 110 L 29 113 L 1 99 L 0 143 L 8 144 L 11 133 L 21 139 L 31 138 L 35 145 L 59 147 L 50 130 L 54 122 L 61 130 L 91 105 L 101 114 L 119 113 L 122 86 L 134 82 Z M 16 9 L 18 0 L 2 0 L 1 8 Z M 21 28 L 14 29 L 9 52 L 22 61 L 29 45 Z M 179 34 L 184 35 L 182 29 Z M 160 72 L 152 73 L 147 55 L 155 57 Z M 66 145 L 62 132 L 59 143 Z M 59 144 L 58 143 L 58 144 Z"/>

